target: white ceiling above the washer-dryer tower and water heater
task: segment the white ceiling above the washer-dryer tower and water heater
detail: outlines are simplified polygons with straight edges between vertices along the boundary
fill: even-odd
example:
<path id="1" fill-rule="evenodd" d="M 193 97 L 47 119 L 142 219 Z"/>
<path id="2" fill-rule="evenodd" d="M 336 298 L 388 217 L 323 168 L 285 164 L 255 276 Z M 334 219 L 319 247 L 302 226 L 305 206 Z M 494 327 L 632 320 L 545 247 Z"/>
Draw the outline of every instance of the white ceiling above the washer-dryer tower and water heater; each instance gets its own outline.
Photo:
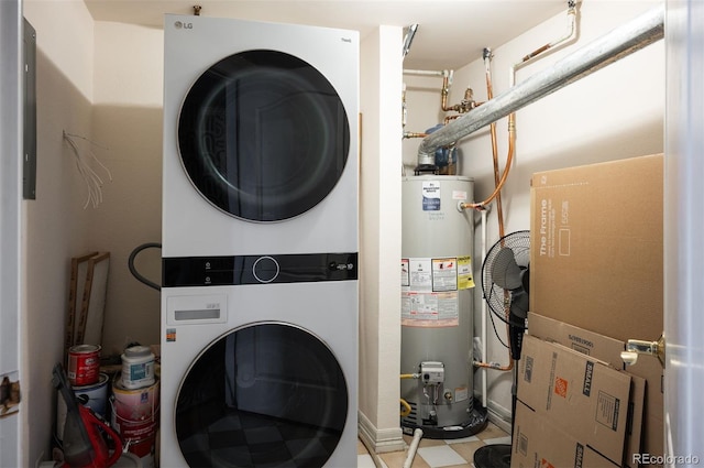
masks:
<path id="1" fill-rule="evenodd" d="M 0 0 L 1 1 L 1 0 Z M 164 13 L 292 22 L 360 31 L 418 24 L 404 68 L 457 69 L 547 19 L 566 0 L 85 0 L 96 21 L 162 28 Z M 398 53 L 402 54 L 402 44 Z"/>

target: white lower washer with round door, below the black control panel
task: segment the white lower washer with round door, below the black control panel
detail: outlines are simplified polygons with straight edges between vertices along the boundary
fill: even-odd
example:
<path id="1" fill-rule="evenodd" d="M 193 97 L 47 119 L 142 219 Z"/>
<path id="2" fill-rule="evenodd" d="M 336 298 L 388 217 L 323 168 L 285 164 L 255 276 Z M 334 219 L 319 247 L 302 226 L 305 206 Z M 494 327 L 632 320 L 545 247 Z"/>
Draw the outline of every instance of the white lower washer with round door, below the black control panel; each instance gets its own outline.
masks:
<path id="1" fill-rule="evenodd" d="M 169 289 L 161 466 L 356 466 L 356 294 L 355 281 Z"/>

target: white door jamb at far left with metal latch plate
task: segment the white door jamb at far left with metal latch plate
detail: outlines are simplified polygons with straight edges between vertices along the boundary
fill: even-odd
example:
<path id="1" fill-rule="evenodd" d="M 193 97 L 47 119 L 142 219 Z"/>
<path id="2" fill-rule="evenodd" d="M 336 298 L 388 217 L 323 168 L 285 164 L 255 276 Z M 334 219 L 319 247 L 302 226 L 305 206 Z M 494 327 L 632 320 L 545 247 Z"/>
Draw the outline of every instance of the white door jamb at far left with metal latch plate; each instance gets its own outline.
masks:
<path id="1" fill-rule="evenodd" d="M 21 459 L 20 414 L 8 382 L 19 381 L 21 37 L 20 0 L 0 1 L 0 466 Z M 7 380 L 4 378 L 8 378 Z"/>

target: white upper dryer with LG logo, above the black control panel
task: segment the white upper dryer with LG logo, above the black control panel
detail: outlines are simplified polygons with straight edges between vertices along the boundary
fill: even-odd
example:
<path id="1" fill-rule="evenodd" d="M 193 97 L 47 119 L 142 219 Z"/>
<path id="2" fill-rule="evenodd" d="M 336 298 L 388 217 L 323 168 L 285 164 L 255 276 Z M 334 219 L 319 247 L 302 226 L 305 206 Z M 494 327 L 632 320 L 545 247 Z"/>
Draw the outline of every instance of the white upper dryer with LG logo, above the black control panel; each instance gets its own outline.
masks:
<path id="1" fill-rule="evenodd" d="M 166 15 L 164 42 L 162 254 L 356 251 L 358 33 Z"/>

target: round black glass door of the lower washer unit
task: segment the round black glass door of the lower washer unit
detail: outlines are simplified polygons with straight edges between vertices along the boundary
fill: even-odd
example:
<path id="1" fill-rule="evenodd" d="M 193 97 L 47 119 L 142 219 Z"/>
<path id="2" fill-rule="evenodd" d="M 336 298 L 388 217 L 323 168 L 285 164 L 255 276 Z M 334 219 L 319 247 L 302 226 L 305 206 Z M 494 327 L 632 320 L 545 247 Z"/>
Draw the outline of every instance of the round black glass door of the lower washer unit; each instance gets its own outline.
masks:
<path id="1" fill-rule="evenodd" d="M 288 324 L 254 324 L 212 342 L 178 391 L 176 435 L 191 467 L 322 467 L 348 414 L 330 349 Z"/>

